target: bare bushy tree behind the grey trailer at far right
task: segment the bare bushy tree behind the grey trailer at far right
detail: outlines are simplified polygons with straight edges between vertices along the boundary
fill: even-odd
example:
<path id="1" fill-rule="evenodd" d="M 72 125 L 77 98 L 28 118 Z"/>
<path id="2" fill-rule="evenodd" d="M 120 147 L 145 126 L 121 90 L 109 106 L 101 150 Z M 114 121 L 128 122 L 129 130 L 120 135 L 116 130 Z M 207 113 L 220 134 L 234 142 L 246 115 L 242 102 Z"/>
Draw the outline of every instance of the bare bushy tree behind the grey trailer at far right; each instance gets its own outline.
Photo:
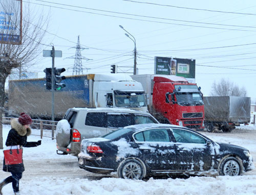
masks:
<path id="1" fill-rule="evenodd" d="M 211 96 L 247 96 L 247 91 L 244 87 L 239 88 L 237 84 L 222 78 L 220 82 L 214 82 L 211 85 Z"/>

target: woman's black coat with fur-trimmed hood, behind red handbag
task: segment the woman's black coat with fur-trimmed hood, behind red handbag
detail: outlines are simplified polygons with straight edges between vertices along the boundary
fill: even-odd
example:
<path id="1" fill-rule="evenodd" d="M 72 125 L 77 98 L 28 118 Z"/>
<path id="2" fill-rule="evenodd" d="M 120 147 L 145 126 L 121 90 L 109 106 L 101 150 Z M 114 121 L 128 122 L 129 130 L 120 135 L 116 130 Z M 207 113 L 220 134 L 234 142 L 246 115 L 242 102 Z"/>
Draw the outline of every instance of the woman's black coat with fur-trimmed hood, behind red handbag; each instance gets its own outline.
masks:
<path id="1" fill-rule="evenodd" d="M 7 136 L 7 140 L 5 145 L 20 145 L 23 147 L 36 147 L 38 145 L 37 142 L 27 142 L 27 136 L 31 134 L 31 129 L 26 128 L 24 125 L 18 122 L 18 119 L 11 120 L 11 130 Z M 23 172 L 25 170 L 24 164 L 13 164 L 6 165 L 4 159 L 4 171 L 7 172 Z"/>

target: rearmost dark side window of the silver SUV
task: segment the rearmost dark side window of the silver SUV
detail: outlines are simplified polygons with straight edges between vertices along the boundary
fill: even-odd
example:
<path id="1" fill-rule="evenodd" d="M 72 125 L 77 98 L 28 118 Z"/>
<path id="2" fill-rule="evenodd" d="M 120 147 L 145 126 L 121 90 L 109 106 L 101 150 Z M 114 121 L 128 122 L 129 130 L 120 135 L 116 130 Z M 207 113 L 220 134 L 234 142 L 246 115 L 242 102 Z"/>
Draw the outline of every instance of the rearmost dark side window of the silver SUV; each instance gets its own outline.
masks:
<path id="1" fill-rule="evenodd" d="M 87 113 L 86 125 L 106 127 L 106 113 Z"/>

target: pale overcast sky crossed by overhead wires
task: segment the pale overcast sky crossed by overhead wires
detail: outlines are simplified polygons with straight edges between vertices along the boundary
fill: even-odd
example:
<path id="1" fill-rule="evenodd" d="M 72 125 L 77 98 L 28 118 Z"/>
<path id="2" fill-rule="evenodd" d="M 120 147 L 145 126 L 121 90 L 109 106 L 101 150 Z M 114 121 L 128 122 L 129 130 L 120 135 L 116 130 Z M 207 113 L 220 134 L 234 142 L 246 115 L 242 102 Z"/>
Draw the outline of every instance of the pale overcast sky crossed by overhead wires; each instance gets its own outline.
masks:
<path id="1" fill-rule="evenodd" d="M 30 2 L 32 11 L 49 13 L 50 24 L 44 44 L 62 51 L 55 67 L 73 74 L 77 37 L 80 36 L 83 73 L 133 72 L 134 42 L 139 74 L 154 74 L 154 57 L 196 59 L 196 83 L 204 96 L 221 78 L 245 87 L 256 99 L 256 2 L 255 1 L 39 1 Z M 42 50 L 51 47 L 42 46 Z M 51 67 L 51 58 L 38 59 L 28 71 Z M 125 68 L 126 67 L 126 68 Z M 130 68 L 129 68 L 130 67 Z"/>

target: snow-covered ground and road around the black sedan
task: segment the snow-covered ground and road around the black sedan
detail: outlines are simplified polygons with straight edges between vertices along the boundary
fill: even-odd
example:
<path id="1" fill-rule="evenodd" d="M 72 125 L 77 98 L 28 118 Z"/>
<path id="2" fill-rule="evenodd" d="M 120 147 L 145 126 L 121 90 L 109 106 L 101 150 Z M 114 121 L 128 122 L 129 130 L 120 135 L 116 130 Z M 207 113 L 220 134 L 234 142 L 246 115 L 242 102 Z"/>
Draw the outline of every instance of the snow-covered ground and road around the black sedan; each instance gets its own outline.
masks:
<path id="1" fill-rule="evenodd" d="M 4 143 L 10 125 L 3 126 Z M 49 136 L 51 132 L 45 131 Z M 32 129 L 39 135 L 39 130 Z M 256 166 L 256 126 L 241 126 L 231 133 L 203 133 L 212 140 L 246 147 Z M 37 141 L 39 136 L 29 136 L 28 141 Z M 0 151 L 0 166 L 3 167 L 3 152 Z M 149 179 L 132 181 L 92 174 L 78 167 L 77 158 L 56 154 L 56 141 L 44 137 L 42 145 L 24 148 L 25 172 L 20 180 L 21 194 L 66 195 L 66 194 L 256 194 L 256 170 L 238 177 L 190 177 L 188 179 Z M 0 171 L 0 180 L 10 176 Z M 3 194 L 12 194 L 8 184 Z"/>

